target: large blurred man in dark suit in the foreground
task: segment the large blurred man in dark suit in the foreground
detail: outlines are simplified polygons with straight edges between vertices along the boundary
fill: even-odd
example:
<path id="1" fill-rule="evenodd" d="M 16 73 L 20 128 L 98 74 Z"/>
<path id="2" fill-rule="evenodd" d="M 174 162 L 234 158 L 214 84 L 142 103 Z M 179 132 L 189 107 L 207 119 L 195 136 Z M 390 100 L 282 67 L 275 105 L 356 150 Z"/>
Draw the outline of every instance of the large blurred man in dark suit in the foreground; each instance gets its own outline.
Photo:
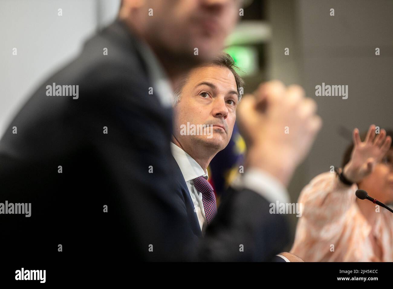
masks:
<path id="1" fill-rule="evenodd" d="M 270 260 L 281 250 L 284 217 L 266 221 L 269 202 L 255 191 L 228 192 L 201 240 L 189 226 L 184 194 L 175 190 L 171 88 L 219 52 L 238 8 L 231 0 L 125 0 L 121 20 L 37 89 L 0 142 L 1 200 L 31 204 L 30 217 L 1 215 L 8 253 L 26 262 L 229 261 Z M 281 89 L 268 94 L 278 98 Z M 282 150 L 259 142 L 266 132 L 258 117 L 265 116 L 250 104 L 253 118 L 243 123 L 250 167 L 280 171 L 286 185 L 318 124 L 295 121 L 301 144 L 289 137 L 285 159 L 264 162 L 264 149 Z"/>

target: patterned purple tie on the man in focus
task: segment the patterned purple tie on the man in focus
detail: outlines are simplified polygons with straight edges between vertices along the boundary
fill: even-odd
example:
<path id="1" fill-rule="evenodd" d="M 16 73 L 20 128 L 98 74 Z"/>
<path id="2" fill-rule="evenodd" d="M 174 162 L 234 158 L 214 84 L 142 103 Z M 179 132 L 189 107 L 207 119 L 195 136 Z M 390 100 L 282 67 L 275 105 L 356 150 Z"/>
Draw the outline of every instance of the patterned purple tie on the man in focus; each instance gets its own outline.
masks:
<path id="1" fill-rule="evenodd" d="M 210 224 L 214 216 L 217 214 L 216 196 L 211 184 L 203 177 L 193 179 L 196 190 L 202 193 L 202 203 L 205 210 L 206 220 Z"/>

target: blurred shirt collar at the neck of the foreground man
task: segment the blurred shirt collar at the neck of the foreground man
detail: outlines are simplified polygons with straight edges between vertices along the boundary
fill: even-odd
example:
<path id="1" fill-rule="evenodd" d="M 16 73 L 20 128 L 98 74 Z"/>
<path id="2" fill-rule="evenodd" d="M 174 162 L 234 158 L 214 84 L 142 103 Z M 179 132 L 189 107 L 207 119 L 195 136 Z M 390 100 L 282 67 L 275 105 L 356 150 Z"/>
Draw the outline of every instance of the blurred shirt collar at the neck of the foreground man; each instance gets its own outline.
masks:
<path id="1" fill-rule="evenodd" d="M 136 46 L 147 65 L 147 73 L 153 84 L 153 93 L 158 95 L 158 99 L 163 107 L 172 107 L 173 90 L 165 70 L 157 59 L 156 54 L 150 46 L 142 40 L 136 41 Z"/>

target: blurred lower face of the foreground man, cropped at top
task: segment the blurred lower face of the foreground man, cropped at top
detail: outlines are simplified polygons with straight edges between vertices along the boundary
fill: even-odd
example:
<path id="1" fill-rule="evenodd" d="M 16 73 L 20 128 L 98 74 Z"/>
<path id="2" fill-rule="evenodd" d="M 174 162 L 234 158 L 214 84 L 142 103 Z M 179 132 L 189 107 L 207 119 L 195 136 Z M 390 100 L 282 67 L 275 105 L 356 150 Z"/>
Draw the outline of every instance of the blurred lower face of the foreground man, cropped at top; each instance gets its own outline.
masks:
<path id="1" fill-rule="evenodd" d="M 199 64 L 213 58 L 239 17 L 242 0 L 146 0 L 145 37 L 170 58 Z M 198 48 L 198 55 L 195 55 Z M 175 57 L 176 56 L 176 57 Z M 190 66 L 191 67 L 191 66 Z"/>

